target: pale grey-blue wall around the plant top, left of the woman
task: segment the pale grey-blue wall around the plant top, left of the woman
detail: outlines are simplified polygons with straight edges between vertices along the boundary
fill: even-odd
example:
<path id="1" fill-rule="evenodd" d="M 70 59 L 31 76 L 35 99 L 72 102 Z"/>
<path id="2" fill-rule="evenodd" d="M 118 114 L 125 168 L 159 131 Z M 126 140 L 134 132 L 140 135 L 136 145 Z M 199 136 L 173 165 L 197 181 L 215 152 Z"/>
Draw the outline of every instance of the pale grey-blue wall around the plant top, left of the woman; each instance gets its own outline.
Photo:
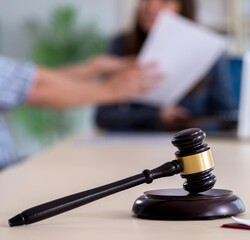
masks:
<path id="1" fill-rule="evenodd" d="M 27 58 L 32 39 L 25 23 L 29 19 L 47 22 L 51 10 L 58 5 L 73 5 L 79 11 L 79 23 L 95 22 L 107 35 L 117 31 L 121 19 L 119 0 L 1 0 L 0 52 Z"/>

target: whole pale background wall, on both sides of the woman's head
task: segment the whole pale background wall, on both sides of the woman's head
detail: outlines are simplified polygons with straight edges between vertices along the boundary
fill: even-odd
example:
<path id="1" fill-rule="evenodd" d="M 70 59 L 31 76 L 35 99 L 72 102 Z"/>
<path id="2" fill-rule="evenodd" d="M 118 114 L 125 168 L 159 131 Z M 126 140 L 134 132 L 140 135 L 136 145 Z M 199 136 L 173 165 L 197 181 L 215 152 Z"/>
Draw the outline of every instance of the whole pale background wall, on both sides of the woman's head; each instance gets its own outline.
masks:
<path id="1" fill-rule="evenodd" d="M 0 0 L 0 52 L 26 58 L 32 38 L 25 31 L 25 22 L 36 18 L 45 22 L 59 4 L 72 4 L 79 10 L 79 22 L 93 21 L 111 35 L 127 28 L 133 20 L 138 0 Z M 249 0 L 197 0 L 199 20 L 232 35 L 232 51 L 249 49 Z M 243 24 L 244 23 L 244 24 Z M 243 27 L 244 26 L 244 27 Z"/>

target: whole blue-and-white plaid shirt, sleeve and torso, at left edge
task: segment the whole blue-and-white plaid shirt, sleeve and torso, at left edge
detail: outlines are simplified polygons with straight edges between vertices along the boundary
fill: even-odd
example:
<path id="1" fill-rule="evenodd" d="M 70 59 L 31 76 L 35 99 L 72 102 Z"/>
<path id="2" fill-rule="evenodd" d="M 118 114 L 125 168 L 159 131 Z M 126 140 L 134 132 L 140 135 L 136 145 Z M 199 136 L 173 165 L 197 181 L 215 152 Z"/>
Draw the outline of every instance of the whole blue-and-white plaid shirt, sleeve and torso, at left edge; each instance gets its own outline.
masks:
<path id="1" fill-rule="evenodd" d="M 0 169 L 18 161 L 4 114 L 23 104 L 35 76 L 35 67 L 0 56 Z"/>

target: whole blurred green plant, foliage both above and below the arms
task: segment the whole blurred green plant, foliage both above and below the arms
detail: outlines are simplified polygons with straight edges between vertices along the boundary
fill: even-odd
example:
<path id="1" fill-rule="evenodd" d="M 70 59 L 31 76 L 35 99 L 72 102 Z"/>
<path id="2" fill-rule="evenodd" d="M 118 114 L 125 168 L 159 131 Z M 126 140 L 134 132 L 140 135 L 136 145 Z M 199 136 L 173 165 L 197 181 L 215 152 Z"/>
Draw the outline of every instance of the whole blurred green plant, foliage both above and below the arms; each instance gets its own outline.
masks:
<path id="1" fill-rule="evenodd" d="M 57 67 L 84 61 L 103 53 L 106 39 L 93 23 L 78 26 L 72 6 L 57 7 L 44 26 L 35 20 L 27 23 L 34 39 L 31 59 L 38 65 Z M 50 111 L 20 107 L 11 114 L 14 124 L 22 124 L 28 135 L 47 143 L 75 129 L 74 111 Z M 50 139 L 50 140 L 48 140 Z"/>

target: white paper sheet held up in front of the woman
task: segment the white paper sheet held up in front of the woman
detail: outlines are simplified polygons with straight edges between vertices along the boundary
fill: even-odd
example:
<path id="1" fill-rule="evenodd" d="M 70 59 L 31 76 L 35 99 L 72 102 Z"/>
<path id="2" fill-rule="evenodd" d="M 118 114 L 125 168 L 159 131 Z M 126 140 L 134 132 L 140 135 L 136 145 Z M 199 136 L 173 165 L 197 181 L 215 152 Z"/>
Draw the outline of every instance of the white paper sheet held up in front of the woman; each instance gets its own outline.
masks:
<path id="1" fill-rule="evenodd" d="M 172 105 L 181 100 L 212 68 L 227 47 L 225 37 L 171 13 L 162 13 L 138 61 L 155 62 L 164 79 L 137 101 Z"/>

